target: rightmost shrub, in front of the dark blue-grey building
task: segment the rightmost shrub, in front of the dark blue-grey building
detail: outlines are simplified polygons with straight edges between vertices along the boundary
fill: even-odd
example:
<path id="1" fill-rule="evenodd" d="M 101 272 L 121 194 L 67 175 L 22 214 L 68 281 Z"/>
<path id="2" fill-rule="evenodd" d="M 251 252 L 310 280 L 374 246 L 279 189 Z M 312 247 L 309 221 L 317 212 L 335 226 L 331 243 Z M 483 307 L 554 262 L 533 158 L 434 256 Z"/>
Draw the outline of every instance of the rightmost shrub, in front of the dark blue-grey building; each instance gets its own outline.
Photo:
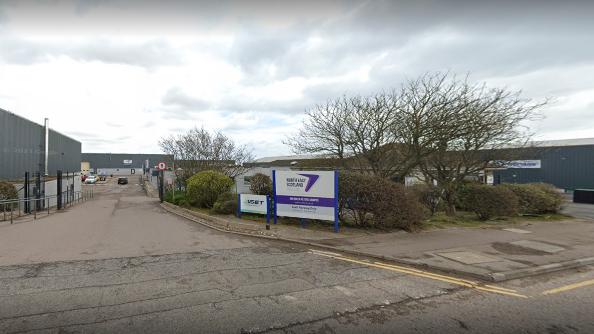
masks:
<path id="1" fill-rule="evenodd" d="M 532 184 L 504 183 L 498 187 L 507 188 L 513 191 L 520 204 L 520 212 L 525 213 L 555 213 L 557 212 L 557 201 L 551 195 L 545 193 Z"/>

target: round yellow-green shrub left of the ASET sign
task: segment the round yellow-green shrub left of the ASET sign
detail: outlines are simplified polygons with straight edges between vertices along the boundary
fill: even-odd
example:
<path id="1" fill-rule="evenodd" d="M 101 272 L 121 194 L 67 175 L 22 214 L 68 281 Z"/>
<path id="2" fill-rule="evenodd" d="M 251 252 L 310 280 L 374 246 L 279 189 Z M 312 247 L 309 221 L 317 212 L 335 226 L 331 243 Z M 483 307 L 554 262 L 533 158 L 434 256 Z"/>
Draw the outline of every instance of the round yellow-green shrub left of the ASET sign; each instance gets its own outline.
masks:
<path id="1" fill-rule="evenodd" d="M 231 187 L 231 178 L 217 172 L 204 171 L 188 178 L 187 196 L 197 206 L 211 208 L 219 195 L 231 190 Z"/>

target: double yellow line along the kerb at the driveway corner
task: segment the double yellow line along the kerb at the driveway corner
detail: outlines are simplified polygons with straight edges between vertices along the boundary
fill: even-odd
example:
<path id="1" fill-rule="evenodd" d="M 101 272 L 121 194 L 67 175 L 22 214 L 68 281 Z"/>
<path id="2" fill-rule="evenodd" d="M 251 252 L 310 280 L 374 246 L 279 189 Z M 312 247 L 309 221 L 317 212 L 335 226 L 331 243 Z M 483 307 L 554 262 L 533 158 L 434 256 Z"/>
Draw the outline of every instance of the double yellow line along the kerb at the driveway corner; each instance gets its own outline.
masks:
<path id="1" fill-rule="evenodd" d="M 340 256 L 340 254 L 331 253 L 329 251 L 309 250 L 309 253 L 317 254 L 317 255 L 321 255 L 321 256 L 332 257 L 337 260 L 343 260 L 343 261 L 348 261 L 348 262 L 352 262 L 352 263 L 364 264 L 365 266 L 392 270 L 394 272 L 401 272 L 401 273 L 406 273 L 409 275 L 415 275 L 415 276 L 419 276 L 419 277 L 435 279 L 437 281 L 443 281 L 443 282 L 448 282 L 448 283 L 452 283 L 452 284 L 456 284 L 456 285 L 462 285 L 462 286 L 466 286 L 467 288 L 473 288 L 473 289 L 478 289 L 478 290 L 482 290 L 482 291 L 494 292 L 496 294 L 510 295 L 510 296 L 520 297 L 520 298 L 532 298 L 532 297 L 529 297 L 526 295 L 519 294 L 516 290 L 512 290 L 512 289 L 499 288 L 497 286 L 492 286 L 492 285 L 482 285 L 481 286 L 477 282 L 467 281 L 466 279 L 438 275 L 438 274 L 434 274 L 434 273 L 424 272 L 422 270 L 394 266 L 392 264 L 386 264 L 386 263 L 381 263 L 381 262 L 369 263 L 369 262 L 359 261 L 359 260 L 351 259 L 349 257 Z"/>

